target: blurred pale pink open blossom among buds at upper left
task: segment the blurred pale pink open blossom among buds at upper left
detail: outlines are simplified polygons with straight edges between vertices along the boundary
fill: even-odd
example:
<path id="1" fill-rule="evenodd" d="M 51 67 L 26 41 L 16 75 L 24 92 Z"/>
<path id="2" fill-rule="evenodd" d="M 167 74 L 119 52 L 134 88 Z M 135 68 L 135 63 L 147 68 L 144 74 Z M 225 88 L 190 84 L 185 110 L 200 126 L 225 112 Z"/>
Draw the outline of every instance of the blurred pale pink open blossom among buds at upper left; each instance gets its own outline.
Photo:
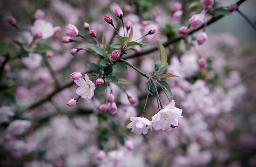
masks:
<path id="1" fill-rule="evenodd" d="M 34 21 L 34 26 L 31 27 L 31 32 L 33 35 L 41 32 L 42 39 L 47 39 L 54 35 L 54 27 L 50 22 L 47 22 L 43 19 L 36 19 Z"/>

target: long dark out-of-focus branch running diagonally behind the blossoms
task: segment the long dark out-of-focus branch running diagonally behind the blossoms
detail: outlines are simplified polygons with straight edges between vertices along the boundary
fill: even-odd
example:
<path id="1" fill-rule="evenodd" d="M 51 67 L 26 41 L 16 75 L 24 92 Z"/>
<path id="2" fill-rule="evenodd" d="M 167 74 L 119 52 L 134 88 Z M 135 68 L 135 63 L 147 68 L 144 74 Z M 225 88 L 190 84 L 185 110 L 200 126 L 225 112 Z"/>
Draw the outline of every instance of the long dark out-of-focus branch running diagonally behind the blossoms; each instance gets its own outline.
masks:
<path id="1" fill-rule="evenodd" d="M 246 1 L 246 0 L 239 0 L 239 1 L 236 3 L 237 6 L 240 6 L 244 1 Z M 214 22 L 216 22 L 217 20 L 221 19 L 223 16 L 224 16 L 224 15 L 213 16 L 213 18 L 210 19 L 206 24 L 209 26 L 209 25 L 213 24 Z M 188 33 L 188 35 L 193 34 L 194 32 L 197 32 L 197 31 L 201 30 L 202 28 L 204 28 L 204 24 L 203 24 L 202 26 L 200 26 L 199 28 L 190 31 L 190 32 Z M 175 43 L 175 42 L 177 42 L 177 41 L 180 41 L 180 40 L 182 40 L 182 39 L 184 39 L 184 36 L 179 36 L 179 37 L 176 37 L 175 39 L 170 39 L 170 40 L 168 40 L 167 42 L 163 43 L 163 46 L 166 47 L 166 46 L 171 45 L 171 44 L 173 44 L 173 43 Z M 126 60 L 126 59 L 129 59 L 129 58 L 140 57 L 140 56 L 142 56 L 142 55 L 149 54 L 149 53 L 154 52 L 154 51 L 156 51 L 156 50 L 157 50 L 157 47 L 152 47 L 151 49 L 148 49 L 148 50 L 145 50 L 145 51 L 141 51 L 140 53 L 135 53 L 135 54 L 128 55 L 128 56 L 126 56 L 126 57 L 124 57 L 124 58 L 122 58 L 122 59 L 123 59 L 123 60 Z M 127 64 L 127 65 L 128 65 L 128 64 Z M 90 73 L 90 72 L 92 72 L 92 71 L 86 71 L 85 73 Z M 143 74 L 143 73 L 142 73 L 142 74 Z M 26 110 L 29 110 L 29 109 L 32 109 L 32 108 L 34 108 L 34 107 L 39 106 L 41 103 L 45 103 L 45 102 L 51 100 L 52 97 L 53 97 L 55 94 L 59 93 L 61 90 L 64 90 L 64 89 L 66 89 L 66 88 L 72 86 L 73 83 L 74 83 L 73 81 L 70 81 L 70 82 L 68 82 L 68 83 L 66 83 L 66 84 L 64 84 L 64 85 L 62 85 L 61 87 L 55 89 L 52 93 L 48 94 L 47 96 L 45 96 L 45 97 L 41 98 L 40 100 L 38 100 L 38 101 L 36 101 L 36 102 L 30 104 L 29 106 L 27 106 L 27 107 L 21 109 L 19 112 L 21 112 L 21 113 L 22 113 L 22 112 L 25 112 Z"/>

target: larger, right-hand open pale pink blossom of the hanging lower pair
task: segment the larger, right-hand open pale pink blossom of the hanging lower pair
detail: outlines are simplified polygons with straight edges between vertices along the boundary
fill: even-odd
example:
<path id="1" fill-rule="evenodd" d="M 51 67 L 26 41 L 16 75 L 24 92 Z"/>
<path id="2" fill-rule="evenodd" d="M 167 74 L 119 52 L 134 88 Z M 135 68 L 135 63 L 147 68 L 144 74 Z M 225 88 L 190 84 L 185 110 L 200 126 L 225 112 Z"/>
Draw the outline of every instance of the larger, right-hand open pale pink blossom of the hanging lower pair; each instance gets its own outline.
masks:
<path id="1" fill-rule="evenodd" d="M 155 116 L 152 116 L 152 124 L 155 130 L 171 130 L 179 126 L 178 118 L 182 117 L 182 109 L 175 107 L 172 100 L 164 109 L 161 109 Z"/>

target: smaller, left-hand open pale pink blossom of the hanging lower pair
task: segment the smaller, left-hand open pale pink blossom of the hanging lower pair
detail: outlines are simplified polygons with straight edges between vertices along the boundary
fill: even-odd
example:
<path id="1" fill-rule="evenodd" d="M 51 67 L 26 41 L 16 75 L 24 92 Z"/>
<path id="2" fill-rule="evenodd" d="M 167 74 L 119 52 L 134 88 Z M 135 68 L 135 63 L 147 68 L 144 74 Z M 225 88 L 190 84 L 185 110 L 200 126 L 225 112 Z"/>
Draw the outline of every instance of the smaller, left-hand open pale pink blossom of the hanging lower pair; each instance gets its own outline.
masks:
<path id="1" fill-rule="evenodd" d="M 141 135 L 141 133 L 146 135 L 148 128 L 152 128 L 151 122 L 145 117 L 130 117 L 130 120 L 132 122 L 126 128 L 132 128 L 132 132 L 137 135 Z"/>

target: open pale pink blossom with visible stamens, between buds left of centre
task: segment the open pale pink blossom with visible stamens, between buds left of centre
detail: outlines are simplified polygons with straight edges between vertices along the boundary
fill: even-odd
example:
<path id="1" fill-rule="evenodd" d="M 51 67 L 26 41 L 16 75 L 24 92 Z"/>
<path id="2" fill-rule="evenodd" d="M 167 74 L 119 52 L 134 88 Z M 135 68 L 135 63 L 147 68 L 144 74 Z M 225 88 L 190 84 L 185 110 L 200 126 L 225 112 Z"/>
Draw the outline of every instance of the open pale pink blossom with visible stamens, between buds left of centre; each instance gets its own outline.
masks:
<path id="1" fill-rule="evenodd" d="M 89 100 L 94 96 L 95 84 L 90 80 L 87 74 L 85 74 L 85 80 L 83 78 L 75 79 L 74 82 L 79 86 L 76 89 L 77 95 L 81 96 L 85 100 Z"/>

